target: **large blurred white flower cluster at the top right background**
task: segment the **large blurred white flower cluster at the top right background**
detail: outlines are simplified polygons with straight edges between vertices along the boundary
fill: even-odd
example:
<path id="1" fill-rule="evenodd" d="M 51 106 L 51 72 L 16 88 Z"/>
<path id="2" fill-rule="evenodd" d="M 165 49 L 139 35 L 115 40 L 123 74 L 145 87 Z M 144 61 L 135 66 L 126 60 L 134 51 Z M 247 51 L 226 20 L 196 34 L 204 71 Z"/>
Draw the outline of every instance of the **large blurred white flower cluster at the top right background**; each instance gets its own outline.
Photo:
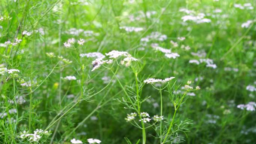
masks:
<path id="1" fill-rule="evenodd" d="M 190 15 L 182 16 L 181 19 L 183 20 L 183 22 L 193 21 L 193 22 L 196 22 L 197 24 L 211 22 L 211 19 L 204 18 L 205 17 L 204 13 L 195 13 L 195 11 L 188 10 L 188 9 L 180 9 L 180 12 L 185 12 L 186 14 L 190 14 Z"/>

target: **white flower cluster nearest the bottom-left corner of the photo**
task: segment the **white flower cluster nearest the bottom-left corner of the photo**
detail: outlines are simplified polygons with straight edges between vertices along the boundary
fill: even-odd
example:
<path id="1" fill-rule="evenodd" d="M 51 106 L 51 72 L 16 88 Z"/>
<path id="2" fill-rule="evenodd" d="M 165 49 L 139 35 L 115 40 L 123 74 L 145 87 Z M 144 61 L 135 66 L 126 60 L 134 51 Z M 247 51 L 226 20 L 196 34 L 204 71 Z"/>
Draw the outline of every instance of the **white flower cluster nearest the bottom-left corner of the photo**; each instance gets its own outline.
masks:
<path id="1" fill-rule="evenodd" d="M 43 131 L 42 129 L 36 129 L 34 134 L 28 134 L 27 131 L 23 131 L 19 136 L 21 139 L 26 139 L 30 142 L 38 142 L 44 135 L 50 135 L 48 131 Z"/>

